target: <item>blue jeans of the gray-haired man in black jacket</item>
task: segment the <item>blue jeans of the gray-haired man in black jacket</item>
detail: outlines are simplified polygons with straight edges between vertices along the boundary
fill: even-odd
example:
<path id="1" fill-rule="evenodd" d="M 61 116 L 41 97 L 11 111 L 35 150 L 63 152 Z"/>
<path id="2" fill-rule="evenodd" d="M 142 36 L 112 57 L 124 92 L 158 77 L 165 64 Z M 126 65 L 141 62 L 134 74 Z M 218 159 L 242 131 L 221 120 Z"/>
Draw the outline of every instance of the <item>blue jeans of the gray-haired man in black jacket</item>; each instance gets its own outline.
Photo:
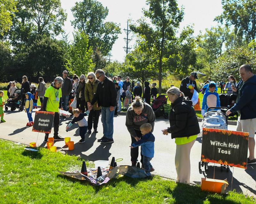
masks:
<path id="1" fill-rule="evenodd" d="M 114 132 L 114 113 L 115 108 L 113 111 L 109 110 L 109 107 L 101 107 L 101 122 L 103 126 L 103 136 L 107 137 L 108 139 L 113 139 L 113 132 Z"/>

